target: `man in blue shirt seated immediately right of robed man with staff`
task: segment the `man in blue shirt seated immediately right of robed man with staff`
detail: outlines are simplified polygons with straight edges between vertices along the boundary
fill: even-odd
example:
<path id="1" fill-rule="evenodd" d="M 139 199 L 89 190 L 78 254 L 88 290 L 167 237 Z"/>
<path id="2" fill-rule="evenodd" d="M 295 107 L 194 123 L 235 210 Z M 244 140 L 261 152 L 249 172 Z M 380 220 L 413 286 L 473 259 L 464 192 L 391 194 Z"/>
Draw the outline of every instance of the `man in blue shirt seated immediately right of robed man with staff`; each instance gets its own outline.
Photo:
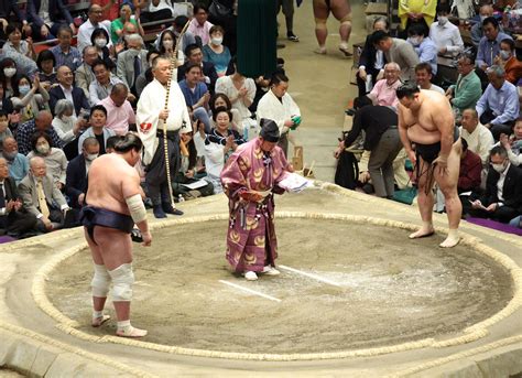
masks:
<path id="1" fill-rule="evenodd" d="M 207 86 L 200 82 L 202 67 L 198 64 L 189 64 L 185 71 L 185 79 L 180 82 L 180 89 L 187 107 L 192 108 L 193 118 L 205 125 L 205 132 L 210 132 L 210 119 L 208 118 L 208 100 L 210 94 Z"/>

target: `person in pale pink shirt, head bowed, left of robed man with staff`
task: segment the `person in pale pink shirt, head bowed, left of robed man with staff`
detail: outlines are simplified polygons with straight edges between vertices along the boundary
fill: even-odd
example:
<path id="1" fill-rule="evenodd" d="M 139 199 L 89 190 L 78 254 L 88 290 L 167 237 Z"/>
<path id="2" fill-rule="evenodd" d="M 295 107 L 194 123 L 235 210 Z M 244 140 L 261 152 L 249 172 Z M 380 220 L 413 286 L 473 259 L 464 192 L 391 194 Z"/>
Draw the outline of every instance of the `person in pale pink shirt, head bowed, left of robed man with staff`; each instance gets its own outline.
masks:
<path id="1" fill-rule="evenodd" d="M 124 136 L 129 129 L 135 130 L 135 114 L 128 100 L 128 94 L 126 85 L 119 83 L 112 87 L 110 96 L 98 102 L 107 109 L 106 128 L 117 136 Z"/>

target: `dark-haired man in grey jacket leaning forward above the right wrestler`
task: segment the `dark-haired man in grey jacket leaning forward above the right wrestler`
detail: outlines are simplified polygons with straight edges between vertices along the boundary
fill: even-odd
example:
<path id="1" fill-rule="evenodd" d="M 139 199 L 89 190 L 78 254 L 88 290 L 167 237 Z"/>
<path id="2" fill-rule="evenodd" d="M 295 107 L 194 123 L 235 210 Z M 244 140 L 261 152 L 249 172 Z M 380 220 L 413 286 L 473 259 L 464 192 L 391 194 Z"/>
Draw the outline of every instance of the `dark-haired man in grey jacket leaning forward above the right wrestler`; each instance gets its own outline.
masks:
<path id="1" fill-rule="evenodd" d="M 410 43 L 391 37 L 382 30 L 373 32 L 371 39 L 376 48 L 384 53 L 388 63 L 399 64 L 402 82 L 413 82 L 415 79 L 415 66 L 418 64 L 418 55 Z"/>

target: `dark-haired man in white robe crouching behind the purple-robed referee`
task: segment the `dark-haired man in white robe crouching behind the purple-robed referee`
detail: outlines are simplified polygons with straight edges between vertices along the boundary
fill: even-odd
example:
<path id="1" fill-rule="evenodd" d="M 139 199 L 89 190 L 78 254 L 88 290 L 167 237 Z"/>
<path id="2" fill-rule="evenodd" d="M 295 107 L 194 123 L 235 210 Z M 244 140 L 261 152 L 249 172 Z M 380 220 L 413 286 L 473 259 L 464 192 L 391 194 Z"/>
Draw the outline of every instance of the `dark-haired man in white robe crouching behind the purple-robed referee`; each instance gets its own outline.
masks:
<path id="1" fill-rule="evenodd" d="M 295 104 L 292 96 L 286 90 L 289 89 L 289 78 L 283 73 L 273 75 L 270 83 L 270 90 L 261 97 L 258 104 L 257 118 L 258 123 L 261 119 L 273 120 L 281 133 L 279 145 L 283 149 L 285 156 L 289 152 L 289 140 L 296 145 L 294 130 L 301 123 L 301 110 Z"/>

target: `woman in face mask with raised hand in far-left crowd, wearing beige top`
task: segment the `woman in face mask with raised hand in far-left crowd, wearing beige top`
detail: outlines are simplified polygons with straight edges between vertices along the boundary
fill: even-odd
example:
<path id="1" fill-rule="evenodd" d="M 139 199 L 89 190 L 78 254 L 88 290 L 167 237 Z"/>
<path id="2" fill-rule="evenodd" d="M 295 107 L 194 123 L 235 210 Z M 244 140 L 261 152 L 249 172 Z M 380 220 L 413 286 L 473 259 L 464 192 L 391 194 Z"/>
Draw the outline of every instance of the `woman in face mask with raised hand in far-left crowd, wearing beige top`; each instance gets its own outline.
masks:
<path id="1" fill-rule="evenodd" d="M 50 110 L 48 93 L 40 85 L 37 76 L 34 77 L 32 87 L 28 76 L 18 76 L 14 80 L 13 93 L 11 100 L 14 109 L 20 111 L 21 122 L 36 118 L 40 110 Z"/>

